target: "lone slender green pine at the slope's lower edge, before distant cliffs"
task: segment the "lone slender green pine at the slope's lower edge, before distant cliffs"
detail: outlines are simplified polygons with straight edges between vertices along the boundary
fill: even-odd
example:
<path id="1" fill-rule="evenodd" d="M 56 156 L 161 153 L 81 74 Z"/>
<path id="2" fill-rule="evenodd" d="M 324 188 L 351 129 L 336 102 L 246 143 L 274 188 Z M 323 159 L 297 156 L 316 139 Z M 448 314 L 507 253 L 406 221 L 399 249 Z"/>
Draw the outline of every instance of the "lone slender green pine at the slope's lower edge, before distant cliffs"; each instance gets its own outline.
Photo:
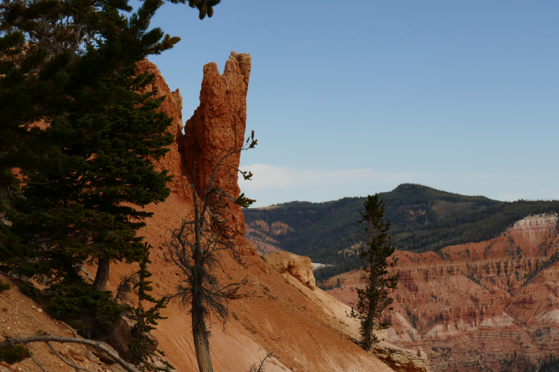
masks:
<path id="1" fill-rule="evenodd" d="M 363 349 L 369 351 L 373 343 L 379 342 L 375 330 L 385 329 L 386 322 L 382 322 L 382 313 L 393 302 L 389 297 L 389 290 L 398 285 L 398 274 L 389 275 L 388 267 L 395 267 L 398 258 L 391 263 L 388 258 L 394 253 L 395 246 L 391 243 L 391 236 L 387 234 L 391 221 L 384 221 L 384 202 L 379 202 L 379 196 L 368 195 L 365 200 L 365 213 L 361 213 L 363 236 L 367 241 L 361 246 L 359 258 L 366 262 L 363 266 L 366 287 L 356 288 L 358 295 L 357 311 L 351 308 L 349 316 L 361 320 L 361 341 Z M 391 308 L 390 308 L 391 309 Z"/>

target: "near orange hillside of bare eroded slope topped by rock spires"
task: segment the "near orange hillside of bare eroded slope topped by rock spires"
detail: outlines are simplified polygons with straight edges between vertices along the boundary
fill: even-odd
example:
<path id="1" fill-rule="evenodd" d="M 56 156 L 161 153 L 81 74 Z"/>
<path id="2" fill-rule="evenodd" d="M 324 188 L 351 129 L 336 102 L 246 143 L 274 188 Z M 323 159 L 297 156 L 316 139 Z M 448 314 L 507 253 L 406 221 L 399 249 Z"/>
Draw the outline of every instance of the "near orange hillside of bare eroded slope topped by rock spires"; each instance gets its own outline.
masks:
<path id="1" fill-rule="evenodd" d="M 161 109 L 173 118 L 173 124 L 168 131 L 176 138 L 166 156 L 155 162 L 156 168 L 167 169 L 175 176 L 169 185 L 172 193 L 165 202 L 145 207 L 145 211 L 153 212 L 154 216 L 147 219 L 147 224 L 139 232 L 153 247 L 150 255 L 150 271 L 153 276 L 150 281 L 154 288 L 152 294 L 157 298 L 175 292 L 176 286 L 184 283 L 181 282 L 180 269 L 169 260 L 164 245 L 169 230 L 177 228 L 182 218 L 194 207 L 191 193 L 184 187 L 187 182 L 191 182 L 189 177 L 194 162 L 204 165 L 197 174 L 208 176 L 205 169 L 212 167 L 212 156 L 215 157 L 231 145 L 241 143 L 244 137 L 244 129 L 241 128 L 245 125 L 243 115 L 246 114 L 243 107 L 246 107 L 246 102 L 243 101 L 246 97 L 246 86 L 242 84 L 248 82 L 249 56 L 232 54 L 226 66 L 228 67 L 220 79 L 216 74 L 215 64 L 205 66 L 207 76 L 204 78 L 205 85 L 201 94 L 203 101 L 193 119 L 189 121 L 188 128 L 191 132 L 184 135 L 180 111 L 182 98 L 178 90 L 171 92 L 168 89 L 154 64 L 149 61 L 138 64 L 138 73 L 148 71 L 155 74 L 154 81 L 147 89 L 157 90 L 158 96 L 165 96 Z M 225 96 L 222 89 L 224 84 Z M 214 110 L 209 102 L 218 107 L 228 107 L 229 111 L 224 109 L 222 114 L 215 115 L 219 110 Z M 212 126 L 222 129 L 214 131 Z M 231 128 L 237 128 L 229 133 L 235 136 L 233 140 L 220 132 Z M 212 135 L 222 138 L 214 141 Z M 236 163 L 231 165 L 237 167 L 238 158 Z M 233 177 L 220 182 L 219 185 L 228 193 L 238 195 L 238 187 Z M 232 211 L 233 214 L 237 212 L 240 210 Z M 242 214 L 240 216 L 242 217 Z M 240 228 L 244 228 L 242 218 L 236 221 Z M 285 226 L 273 225 L 271 228 L 281 231 Z M 246 241 L 240 241 L 240 244 L 249 246 Z M 245 281 L 246 284 L 242 287 L 242 295 L 229 300 L 231 316 L 226 327 L 211 319 L 210 355 L 216 371 L 248 371 L 252 364 L 263 359 L 266 352 L 273 352 L 274 355 L 268 358 L 269 363 L 266 364 L 266 371 L 269 372 L 393 371 L 381 362 L 379 357 L 368 354 L 351 341 L 351 338 L 358 336 L 358 320 L 347 318 L 347 305 L 319 288 L 314 288 L 314 277 L 307 258 L 289 258 L 286 260 L 288 269 L 279 273 L 256 255 L 255 249 L 244 249 L 242 253 L 241 263 L 224 254 L 220 261 L 223 271 L 217 272 L 217 278 L 224 285 L 240 281 Z M 108 290 L 115 290 L 122 276 L 137 270 L 137 265 L 127 265 L 124 262 L 113 264 Z M 66 326 L 50 318 L 46 311 L 37 308 L 38 305 L 24 297 L 15 285 L 3 293 L 0 304 L 6 305 L 0 317 L 1 334 L 15 336 L 17 332 L 36 332 L 38 327 L 49 334 L 73 334 Z M 198 371 L 188 310 L 176 302 L 170 302 L 162 314 L 167 318 L 160 320 L 157 329 L 154 330 L 159 347 L 166 352 L 166 358 L 175 366 L 177 372 Z M 126 345 L 124 338 L 121 341 Z M 55 348 L 59 349 L 56 345 Z M 73 357 L 82 368 L 121 370 L 112 363 L 112 359 L 103 357 L 99 352 L 96 355 L 89 353 L 88 356 L 85 349 L 59 351 L 62 355 L 68 354 Z M 126 353 L 126 350 L 122 352 Z M 405 365 L 405 371 L 419 371 L 414 369 L 414 366 L 419 364 L 409 363 L 414 359 L 414 352 L 398 350 L 398 355 L 397 363 Z M 71 370 L 52 355 L 46 345 L 36 346 L 34 357 L 49 371 Z M 100 363 L 97 357 L 106 364 Z M 380 357 L 386 359 L 386 353 Z M 386 360 L 393 363 L 396 359 Z M 31 359 L 12 367 L 29 372 L 41 371 Z M 0 366 L 1 369 L 3 366 Z"/>

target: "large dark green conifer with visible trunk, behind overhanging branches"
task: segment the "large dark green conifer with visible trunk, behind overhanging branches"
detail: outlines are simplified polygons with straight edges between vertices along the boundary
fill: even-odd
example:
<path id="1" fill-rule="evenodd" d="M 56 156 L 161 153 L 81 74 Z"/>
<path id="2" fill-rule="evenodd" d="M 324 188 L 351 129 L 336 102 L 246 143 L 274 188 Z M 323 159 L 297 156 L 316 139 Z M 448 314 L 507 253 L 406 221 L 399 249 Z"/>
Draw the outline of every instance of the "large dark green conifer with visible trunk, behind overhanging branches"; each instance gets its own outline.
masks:
<path id="1" fill-rule="evenodd" d="M 143 244 L 136 230 L 151 214 L 133 206 L 169 195 L 170 177 L 166 170 L 154 170 L 152 159 L 168 151 L 173 135 L 165 133 L 172 119 L 156 111 L 163 98 L 136 93 L 153 77 L 133 77 L 134 72 L 129 68 L 112 79 L 120 93 L 110 107 L 55 117 L 47 133 L 70 127 L 80 140 L 57 148 L 41 162 L 40 173 L 22 171 L 35 184 L 12 200 L 6 219 L 13 243 L 0 247 L 4 265 L 17 274 L 79 281 L 82 263 L 97 258 L 94 284 L 102 291 L 110 260 L 140 257 Z M 41 179 L 56 182 L 40 184 Z"/>

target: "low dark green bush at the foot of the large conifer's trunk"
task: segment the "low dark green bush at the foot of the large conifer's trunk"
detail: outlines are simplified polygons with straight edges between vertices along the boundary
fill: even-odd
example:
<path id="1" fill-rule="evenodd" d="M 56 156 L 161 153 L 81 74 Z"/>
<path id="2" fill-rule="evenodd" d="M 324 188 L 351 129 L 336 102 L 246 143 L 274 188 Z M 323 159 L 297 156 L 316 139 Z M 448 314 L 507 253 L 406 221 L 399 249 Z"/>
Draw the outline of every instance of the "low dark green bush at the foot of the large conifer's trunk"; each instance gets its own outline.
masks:
<path id="1" fill-rule="evenodd" d="M 50 315 L 78 329 L 85 338 L 99 339 L 126 311 L 112 299 L 109 291 L 96 290 L 84 282 L 55 283 L 43 295 L 50 299 Z"/>

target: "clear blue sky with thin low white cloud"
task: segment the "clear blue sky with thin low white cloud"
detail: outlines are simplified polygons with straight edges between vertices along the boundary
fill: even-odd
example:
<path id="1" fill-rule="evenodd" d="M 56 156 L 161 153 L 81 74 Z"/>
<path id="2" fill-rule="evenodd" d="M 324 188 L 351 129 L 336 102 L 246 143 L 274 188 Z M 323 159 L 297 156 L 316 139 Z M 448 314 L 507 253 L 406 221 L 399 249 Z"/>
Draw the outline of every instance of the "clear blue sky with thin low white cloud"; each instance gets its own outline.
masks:
<path id="1" fill-rule="evenodd" d="M 166 3 L 180 43 L 152 57 L 186 121 L 204 64 L 252 55 L 242 191 L 266 206 L 403 182 L 498 200 L 559 199 L 559 1 Z"/>

